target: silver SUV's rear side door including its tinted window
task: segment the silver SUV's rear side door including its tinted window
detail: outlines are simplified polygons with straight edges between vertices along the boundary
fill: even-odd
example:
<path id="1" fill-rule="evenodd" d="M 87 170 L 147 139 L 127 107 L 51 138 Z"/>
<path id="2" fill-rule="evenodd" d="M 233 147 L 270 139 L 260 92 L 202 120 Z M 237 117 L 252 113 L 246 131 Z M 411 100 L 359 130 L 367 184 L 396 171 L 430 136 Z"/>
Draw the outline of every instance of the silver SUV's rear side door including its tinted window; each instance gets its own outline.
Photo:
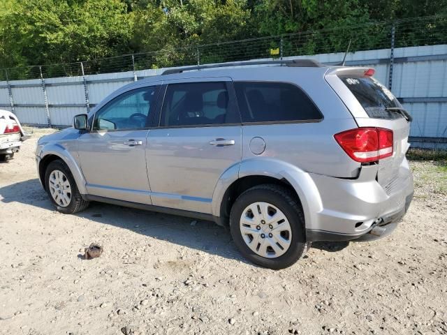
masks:
<path id="1" fill-rule="evenodd" d="M 152 203 L 212 213 L 221 174 L 241 159 L 241 124 L 228 78 L 168 82 L 160 127 L 149 133 Z"/>

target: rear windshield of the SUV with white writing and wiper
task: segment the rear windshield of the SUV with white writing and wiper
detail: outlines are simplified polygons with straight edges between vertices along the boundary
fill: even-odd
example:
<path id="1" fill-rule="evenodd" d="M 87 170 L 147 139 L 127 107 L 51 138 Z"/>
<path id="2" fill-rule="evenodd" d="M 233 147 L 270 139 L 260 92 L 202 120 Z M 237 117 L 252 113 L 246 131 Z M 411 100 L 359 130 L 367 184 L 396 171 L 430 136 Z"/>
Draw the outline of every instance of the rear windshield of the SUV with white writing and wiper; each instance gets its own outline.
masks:
<path id="1" fill-rule="evenodd" d="M 400 107 L 395 96 L 373 77 L 339 77 L 357 98 L 369 117 L 374 119 L 399 119 L 402 114 L 386 108 Z"/>

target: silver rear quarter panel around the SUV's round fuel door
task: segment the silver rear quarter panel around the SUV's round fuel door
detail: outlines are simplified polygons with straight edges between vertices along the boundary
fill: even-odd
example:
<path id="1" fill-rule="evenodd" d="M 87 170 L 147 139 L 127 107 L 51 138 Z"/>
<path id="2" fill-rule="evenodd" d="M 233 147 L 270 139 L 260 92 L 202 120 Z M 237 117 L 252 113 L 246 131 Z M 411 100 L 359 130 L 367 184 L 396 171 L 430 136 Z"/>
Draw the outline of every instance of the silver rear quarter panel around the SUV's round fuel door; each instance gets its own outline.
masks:
<path id="1" fill-rule="evenodd" d="M 354 178 L 358 176 L 360 163 L 351 160 L 333 137 L 350 128 L 356 128 L 352 118 L 242 126 L 242 158 L 274 158 L 305 172 Z M 255 137 L 265 143 L 262 154 L 251 151 L 250 143 Z"/>

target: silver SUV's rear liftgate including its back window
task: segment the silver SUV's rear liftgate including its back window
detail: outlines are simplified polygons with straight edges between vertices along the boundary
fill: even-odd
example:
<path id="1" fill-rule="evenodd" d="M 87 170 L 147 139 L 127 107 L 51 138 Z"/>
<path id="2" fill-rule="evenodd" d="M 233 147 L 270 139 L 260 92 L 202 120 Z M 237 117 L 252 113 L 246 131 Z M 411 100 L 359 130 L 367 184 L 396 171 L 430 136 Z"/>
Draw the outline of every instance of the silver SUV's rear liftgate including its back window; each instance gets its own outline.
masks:
<path id="1" fill-rule="evenodd" d="M 356 119 L 359 127 L 379 127 L 393 131 L 393 156 L 379 161 L 378 181 L 388 188 L 399 177 L 400 166 L 409 148 L 410 122 L 397 110 L 402 108 L 397 98 L 378 80 L 364 75 L 365 68 L 347 68 L 327 76 Z"/>

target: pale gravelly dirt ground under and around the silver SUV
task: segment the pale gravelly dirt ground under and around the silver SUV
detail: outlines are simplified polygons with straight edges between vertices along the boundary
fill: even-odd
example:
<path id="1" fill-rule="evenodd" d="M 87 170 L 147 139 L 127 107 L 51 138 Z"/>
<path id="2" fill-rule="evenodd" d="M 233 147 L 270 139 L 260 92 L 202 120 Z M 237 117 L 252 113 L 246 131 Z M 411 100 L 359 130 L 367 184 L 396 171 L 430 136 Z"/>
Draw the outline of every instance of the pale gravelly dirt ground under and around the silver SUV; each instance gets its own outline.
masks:
<path id="1" fill-rule="evenodd" d="M 0 334 L 447 334 L 447 169 L 411 162 L 387 239 L 318 243 L 288 269 L 246 262 L 208 222 L 93 203 L 54 211 L 35 130 L 0 163 Z M 82 260 L 96 241 L 104 253 Z"/>

